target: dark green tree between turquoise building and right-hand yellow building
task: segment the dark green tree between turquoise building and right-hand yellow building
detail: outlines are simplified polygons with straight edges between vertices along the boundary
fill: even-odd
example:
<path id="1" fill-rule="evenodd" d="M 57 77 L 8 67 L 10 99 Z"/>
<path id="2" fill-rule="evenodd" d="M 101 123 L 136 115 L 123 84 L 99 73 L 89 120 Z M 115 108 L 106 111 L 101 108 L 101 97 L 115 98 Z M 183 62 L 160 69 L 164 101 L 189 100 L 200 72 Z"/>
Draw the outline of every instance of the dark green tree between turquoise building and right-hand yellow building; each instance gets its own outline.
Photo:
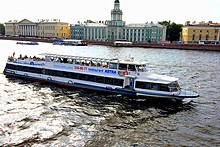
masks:
<path id="1" fill-rule="evenodd" d="M 179 41 L 180 38 L 180 32 L 182 32 L 182 24 L 176 24 L 174 22 L 170 21 L 162 21 L 159 22 L 161 25 L 164 25 L 167 27 L 166 31 L 166 38 L 169 40 L 171 43 L 173 41 Z"/>

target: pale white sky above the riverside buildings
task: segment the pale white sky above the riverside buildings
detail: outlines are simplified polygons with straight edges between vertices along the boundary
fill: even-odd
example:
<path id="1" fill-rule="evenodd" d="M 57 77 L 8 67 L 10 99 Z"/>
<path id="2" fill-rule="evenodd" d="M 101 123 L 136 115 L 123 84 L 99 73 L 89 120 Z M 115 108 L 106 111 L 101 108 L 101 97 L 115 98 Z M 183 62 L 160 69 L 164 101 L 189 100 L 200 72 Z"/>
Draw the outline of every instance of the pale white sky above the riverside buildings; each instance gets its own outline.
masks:
<path id="1" fill-rule="evenodd" d="M 75 24 L 111 19 L 115 0 L 0 0 L 0 23 L 60 19 Z M 119 0 L 126 24 L 171 21 L 220 23 L 220 0 Z"/>

